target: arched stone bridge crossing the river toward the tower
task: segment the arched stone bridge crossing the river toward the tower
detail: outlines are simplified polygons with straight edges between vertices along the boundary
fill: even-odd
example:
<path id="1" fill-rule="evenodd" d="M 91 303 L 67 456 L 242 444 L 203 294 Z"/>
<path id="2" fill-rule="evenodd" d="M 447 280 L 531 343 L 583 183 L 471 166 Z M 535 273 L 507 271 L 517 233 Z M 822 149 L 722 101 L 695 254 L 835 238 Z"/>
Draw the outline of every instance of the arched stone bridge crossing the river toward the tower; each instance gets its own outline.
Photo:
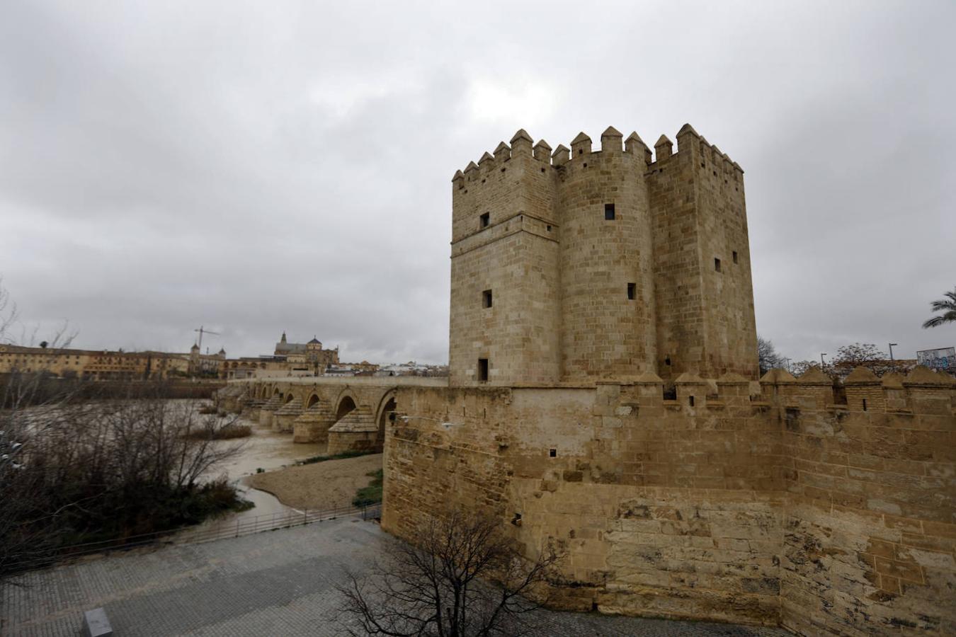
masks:
<path id="1" fill-rule="evenodd" d="M 294 442 L 328 444 L 328 454 L 381 450 L 385 421 L 402 386 L 447 387 L 447 378 L 421 376 L 263 377 L 229 381 L 216 400 Z"/>

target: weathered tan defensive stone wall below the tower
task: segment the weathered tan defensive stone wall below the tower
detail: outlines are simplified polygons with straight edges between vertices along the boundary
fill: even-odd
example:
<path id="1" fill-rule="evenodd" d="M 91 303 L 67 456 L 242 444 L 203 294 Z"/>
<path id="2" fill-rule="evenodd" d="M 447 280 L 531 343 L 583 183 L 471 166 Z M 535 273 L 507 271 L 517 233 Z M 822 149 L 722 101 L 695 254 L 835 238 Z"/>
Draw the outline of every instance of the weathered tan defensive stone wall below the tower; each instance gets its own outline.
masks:
<path id="1" fill-rule="evenodd" d="M 918 368 L 652 373 L 575 387 L 398 388 L 382 525 L 413 539 L 449 503 L 561 542 L 575 609 L 956 631 L 956 387 Z M 845 395 L 845 404 L 841 404 Z"/>

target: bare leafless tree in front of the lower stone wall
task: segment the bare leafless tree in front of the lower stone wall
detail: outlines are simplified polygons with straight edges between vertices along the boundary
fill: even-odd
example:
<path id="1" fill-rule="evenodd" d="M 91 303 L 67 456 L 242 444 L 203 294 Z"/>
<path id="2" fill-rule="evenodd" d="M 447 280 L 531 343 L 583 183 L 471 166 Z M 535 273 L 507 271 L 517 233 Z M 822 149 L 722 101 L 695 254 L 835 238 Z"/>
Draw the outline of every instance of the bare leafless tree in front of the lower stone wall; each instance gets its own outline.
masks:
<path id="1" fill-rule="evenodd" d="M 562 559 L 553 544 L 526 559 L 501 520 L 453 510 L 426 522 L 416 544 L 397 542 L 366 577 L 348 573 L 337 619 L 351 635 L 538 634 L 528 613 Z"/>

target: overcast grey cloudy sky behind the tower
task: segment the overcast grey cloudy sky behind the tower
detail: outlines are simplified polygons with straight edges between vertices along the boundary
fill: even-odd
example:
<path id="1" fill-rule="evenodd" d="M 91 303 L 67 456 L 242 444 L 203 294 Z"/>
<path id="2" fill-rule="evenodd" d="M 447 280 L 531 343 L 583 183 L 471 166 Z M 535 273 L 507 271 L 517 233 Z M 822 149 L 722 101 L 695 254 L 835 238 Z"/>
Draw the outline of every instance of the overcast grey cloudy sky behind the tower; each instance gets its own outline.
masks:
<path id="1" fill-rule="evenodd" d="M 516 7 L 517 6 L 517 7 Z M 452 174 L 684 122 L 746 171 L 757 329 L 898 357 L 956 286 L 953 2 L 5 2 L 15 334 L 447 360 Z"/>

